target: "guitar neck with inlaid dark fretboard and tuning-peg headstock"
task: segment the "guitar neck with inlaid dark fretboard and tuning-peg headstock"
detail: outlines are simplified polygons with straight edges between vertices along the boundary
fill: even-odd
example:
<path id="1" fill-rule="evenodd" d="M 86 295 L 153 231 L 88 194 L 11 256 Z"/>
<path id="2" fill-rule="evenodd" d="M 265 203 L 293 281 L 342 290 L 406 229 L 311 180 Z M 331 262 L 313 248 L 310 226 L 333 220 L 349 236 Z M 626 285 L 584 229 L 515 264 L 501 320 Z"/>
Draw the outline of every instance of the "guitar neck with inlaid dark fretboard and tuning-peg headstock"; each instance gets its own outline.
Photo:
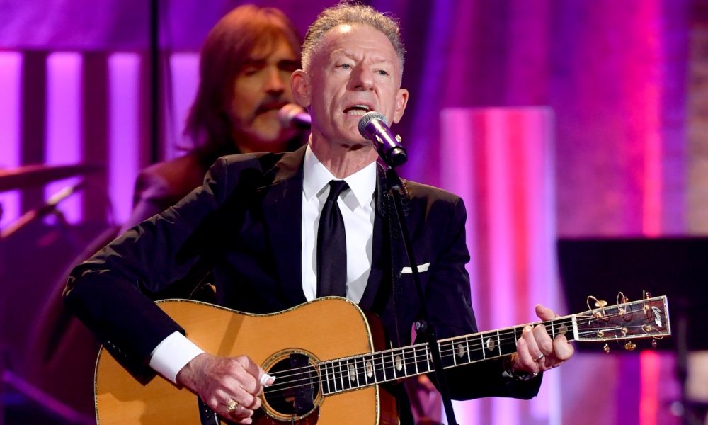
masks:
<path id="1" fill-rule="evenodd" d="M 580 314 L 438 341 L 443 368 L 455 368 L 516 352 L 524 327 L 543 324 L 549 335 L 569 341 L 621 341 L 670 335 L 666 297 L 626 302 Z M 633 348 L 632 348 L 633 349 Z M 428 343 L 319 363 L 324 395 L 357 390 L 435 370 Z"/>

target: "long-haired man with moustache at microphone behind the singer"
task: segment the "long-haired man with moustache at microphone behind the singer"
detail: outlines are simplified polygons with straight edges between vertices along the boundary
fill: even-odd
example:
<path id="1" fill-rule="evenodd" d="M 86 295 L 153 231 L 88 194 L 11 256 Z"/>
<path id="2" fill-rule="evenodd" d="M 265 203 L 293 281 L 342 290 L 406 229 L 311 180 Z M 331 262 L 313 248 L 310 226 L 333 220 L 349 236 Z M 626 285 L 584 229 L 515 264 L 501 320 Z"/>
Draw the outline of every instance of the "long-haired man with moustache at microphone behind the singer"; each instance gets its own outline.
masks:
<path id="1" fill-rule="evenodd" d="M 304 137 L 278 120 L 280 108 L 292 103 L 290 74 L 300 65 L 300 42 L 276 8 L 239 6 L 216 23 L 202 46 L 198 91 L 184 130 L 194 147 L 141 171 L 124 230 L 201 186 L 218 157 L 302 145 Z"/>

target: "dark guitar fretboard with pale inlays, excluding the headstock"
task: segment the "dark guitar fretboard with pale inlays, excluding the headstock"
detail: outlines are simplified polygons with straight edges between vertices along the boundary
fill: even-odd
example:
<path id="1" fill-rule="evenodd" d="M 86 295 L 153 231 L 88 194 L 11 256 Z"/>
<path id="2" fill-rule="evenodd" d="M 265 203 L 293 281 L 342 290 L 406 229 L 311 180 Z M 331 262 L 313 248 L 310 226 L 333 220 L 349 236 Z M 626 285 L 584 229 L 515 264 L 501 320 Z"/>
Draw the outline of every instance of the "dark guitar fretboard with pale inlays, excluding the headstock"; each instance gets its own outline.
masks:
<path id="1" fill-rule="evenodd" d="M 558 317 L 544 324 L 552 338 L 576 331 L 573 316 Z M 456 336 L 438 341 L 445 369 L 467 365 L 516 352 L 516 341 L 526 325 L 497 329 L 478 334 Z M 569 340 L 572 340 L 569 337 Z M 435 370 L 428 343 L 392 348 L 376 353 L 337 358 L 319 363 L 323 395 L 358 390 L 370 385 L 391 382 Z"/>

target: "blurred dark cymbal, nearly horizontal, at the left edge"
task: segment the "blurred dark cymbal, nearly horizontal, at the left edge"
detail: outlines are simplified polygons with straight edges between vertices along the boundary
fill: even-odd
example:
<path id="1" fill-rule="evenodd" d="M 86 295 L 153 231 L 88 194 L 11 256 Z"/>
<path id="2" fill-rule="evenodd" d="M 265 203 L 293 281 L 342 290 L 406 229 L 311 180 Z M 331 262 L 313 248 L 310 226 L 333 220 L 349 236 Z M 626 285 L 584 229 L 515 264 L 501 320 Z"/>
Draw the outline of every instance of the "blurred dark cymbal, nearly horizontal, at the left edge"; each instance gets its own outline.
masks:
<path id="1" fill-rule="evenodd" d="M 23 165 L 13 169 L 0 169 L 0 192 L 13 189 L 40 186 L 50 181 L 67 179 L 79 174 L 95 173 L 103 170 L 102 165 Z"/>

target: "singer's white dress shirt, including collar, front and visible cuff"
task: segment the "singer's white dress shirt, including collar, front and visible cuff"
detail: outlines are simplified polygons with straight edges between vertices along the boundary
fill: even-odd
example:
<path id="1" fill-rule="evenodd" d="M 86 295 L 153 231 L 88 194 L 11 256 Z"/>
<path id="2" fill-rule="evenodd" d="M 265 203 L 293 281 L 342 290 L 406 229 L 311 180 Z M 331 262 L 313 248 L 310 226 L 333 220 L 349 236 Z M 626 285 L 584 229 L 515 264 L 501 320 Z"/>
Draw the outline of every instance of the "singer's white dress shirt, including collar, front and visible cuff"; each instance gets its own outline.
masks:
<path id="1" fill-rule="evenodd" d="M 317 295 L 317 227 L 329 181 L 336 179 L 319 162 L 309 145 L 305 150 L 302 184 L 302 290 L 308 301 Z M 344 179 L 349 189 L 337 203 L 344 220 L 347 242 L 347 298 L 359 302 L 371 269 L 374 234 L 376 163 Z M 174 332 L 152 351 L 150 367 L 176 382 L 177 373 L 204 351 L 179 332 Z M 248 347 L 244 347 L 248 354 Z"/>

